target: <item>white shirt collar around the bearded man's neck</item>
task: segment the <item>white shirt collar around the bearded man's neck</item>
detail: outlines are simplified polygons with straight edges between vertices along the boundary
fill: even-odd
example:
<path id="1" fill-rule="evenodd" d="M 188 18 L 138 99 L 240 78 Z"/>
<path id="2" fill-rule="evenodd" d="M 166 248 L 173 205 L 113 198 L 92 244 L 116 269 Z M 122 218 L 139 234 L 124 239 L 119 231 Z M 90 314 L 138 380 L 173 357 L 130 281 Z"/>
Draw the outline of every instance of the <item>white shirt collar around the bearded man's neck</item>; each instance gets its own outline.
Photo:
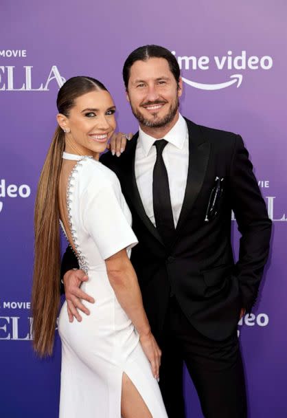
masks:
<path id="1" fill-rule="evenodd" d="M 172 129 L 170 129 L 170 131 L 165 135 L 164 139 L 177 148 L 183 149 L 183 144 L 187 134 L 187 124 L 183 116 L 179 113 L 179 120 L 177 120 L 176 124 L 172 126 Z M 139 127 L 139 145 L 141 146 L 145 157 L 150 152 L 150 148 L 152 148 L 154 141 L 156 141 L 156 138 L 144 133 Z"/>

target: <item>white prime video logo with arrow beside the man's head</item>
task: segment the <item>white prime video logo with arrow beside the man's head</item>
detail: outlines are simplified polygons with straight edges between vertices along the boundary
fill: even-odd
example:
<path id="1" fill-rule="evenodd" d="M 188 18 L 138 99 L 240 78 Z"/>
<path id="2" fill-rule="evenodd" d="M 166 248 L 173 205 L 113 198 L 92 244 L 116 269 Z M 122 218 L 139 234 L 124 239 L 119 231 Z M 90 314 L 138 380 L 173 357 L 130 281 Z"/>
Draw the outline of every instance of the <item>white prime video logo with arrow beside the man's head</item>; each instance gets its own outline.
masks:
<path id="1" fill-rule="evenodd" d="M 228 51 L 226 55 L 222 56 L 176 56 L 176 51 L 172 51 L 172 54 L 176 57 L 177 62 L 181 70 L 201 70 L 206 71 L 209 69 L 216 70 L 229 70 L 234 71 L 235 74 L 231 74 L 229 79 L 220 80 L 220 83 L 198 83 L 196 80 L 190 80 L 189 78 L 182 77 L 183 82 L 191 87 L 201 90 L 220 90 L 236 85 L 240 87 L 243 80 L 243 75 L 238 74 L 238 70 L 244 71 L 246 69 L 256 71 L 258 69 L 268 70 L 273 67 L 273 58 L 268 55 L 248 56 L 246 51 L 242 51 L 239 55 L 234 55 L 232 51 Z M 195 73 L 194 73 L 195 74 Z"/>

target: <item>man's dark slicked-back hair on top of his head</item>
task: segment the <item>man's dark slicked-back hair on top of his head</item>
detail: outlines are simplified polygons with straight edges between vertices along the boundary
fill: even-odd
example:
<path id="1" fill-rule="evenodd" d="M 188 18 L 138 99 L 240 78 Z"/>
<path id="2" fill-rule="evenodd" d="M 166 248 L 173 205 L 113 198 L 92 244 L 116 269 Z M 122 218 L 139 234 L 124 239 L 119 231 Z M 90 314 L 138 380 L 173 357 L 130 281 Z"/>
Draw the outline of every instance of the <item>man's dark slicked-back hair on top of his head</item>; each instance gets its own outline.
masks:
<path id="1" fill-rule="evenodd" d="M 128 58 L 126 58 L 123 67 L 123 78 L 126 90 L 128 89 L 128 80 L 130 79 L 130 67 L 135 61 L 148 61 L 149 58 L 164 58 L 168 61 L 170 71 L 174 75 L 176 83 L 179 84 L 181 70 L 179 69 L 179 63 L 176 61 L 175 56 L 169 50 L 159 45 L 144 45 L 131 52 Z"/>

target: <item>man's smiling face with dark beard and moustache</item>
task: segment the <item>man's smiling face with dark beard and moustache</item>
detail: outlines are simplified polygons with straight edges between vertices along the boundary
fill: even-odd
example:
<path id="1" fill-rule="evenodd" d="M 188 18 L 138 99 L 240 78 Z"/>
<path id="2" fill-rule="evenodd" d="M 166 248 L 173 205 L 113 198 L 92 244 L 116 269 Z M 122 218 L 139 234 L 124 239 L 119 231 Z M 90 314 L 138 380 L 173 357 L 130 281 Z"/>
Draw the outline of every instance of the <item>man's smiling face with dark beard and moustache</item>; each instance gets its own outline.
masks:
<path id="1" fill-rule="evenodd" d="M 141 126 L 160 128 L 172 122 L 179 111 L 179 86 L 165 58 L 135 61 L 130 67 L 127 99 Z"/>

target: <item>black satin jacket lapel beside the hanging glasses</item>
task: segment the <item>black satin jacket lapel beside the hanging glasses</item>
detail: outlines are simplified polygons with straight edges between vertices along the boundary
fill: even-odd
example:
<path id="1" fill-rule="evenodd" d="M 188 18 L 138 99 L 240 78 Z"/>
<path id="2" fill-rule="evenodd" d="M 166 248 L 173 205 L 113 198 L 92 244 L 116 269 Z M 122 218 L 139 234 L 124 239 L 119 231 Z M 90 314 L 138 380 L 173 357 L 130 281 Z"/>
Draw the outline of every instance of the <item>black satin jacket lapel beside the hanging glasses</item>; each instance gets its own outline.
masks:
<path id="1" fill-rule="evenodd" d="M 210 153 L 210 143 L 206 142 L 198 125 L 185 119 L 189 134 L 189 165 L 187 172 L 187 183 L 185 188 L 185 197 L 179 221 L 176 225 L 176 237 L 179 235 L 184 225 L 187 214 L 192 210 L 192 206 L 198 197 L 203 180 L 207 170 L 207 164 Z"/>

